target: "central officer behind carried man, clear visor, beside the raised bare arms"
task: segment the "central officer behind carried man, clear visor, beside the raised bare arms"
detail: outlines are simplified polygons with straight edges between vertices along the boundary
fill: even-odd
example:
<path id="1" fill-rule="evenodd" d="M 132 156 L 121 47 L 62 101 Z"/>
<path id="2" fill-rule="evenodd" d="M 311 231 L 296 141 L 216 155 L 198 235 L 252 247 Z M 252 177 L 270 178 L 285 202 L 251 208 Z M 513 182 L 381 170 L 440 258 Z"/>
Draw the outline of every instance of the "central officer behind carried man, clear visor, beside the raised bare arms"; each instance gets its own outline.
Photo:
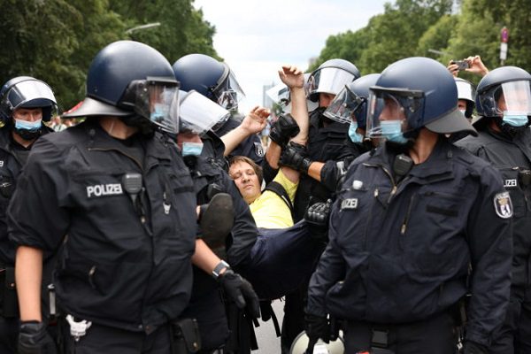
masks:
<path id="1" fill-rule="evenodd" d="M 322 176 L 330 175 L 333 176 L 330 179 L 335 179 L 344 165 L 343 159 L 350 157 L 351 151 L 344 145 L 349 125 L 329 119 L 323 115 L 323 112 L 345 84 L 358 77 L 359 71 L 356 65 L 343 59 L 331 59 L 319 65 L 319 68 L 312 72 L 308 79 L 305 87 L 307 97 L 312 102 L 319 102 L 319 108 L 310 112 L 306 150 L 288 145 L 282 151 L 283 164 L 301 172 L 294 201 L 295 222 L 304 218 L 304 212 L 312 204 L 327 202 L 334 189 L 327 189 L 327 186 L 322 183 Z M 299 79 L 299 81 L 304 80 Z M 298 114 L 296 106 L 293 106 L 291 112 L 294 117 Z M 305 104 L 301 106 L 305 108 Z M 275 166 L 269 159 L 267 163 L 272 167 Z M 265 177 L 276 174 L 266 173 L 268 170 L 270 169 L 265 167 Z M 265 179 L 267 182 L 268 178 Z M 286 296 L 281 337 L 282 353 L 289 352 L 291 342 L 304 328 L 303 297 L 305 293 L 304 287 Z"/>

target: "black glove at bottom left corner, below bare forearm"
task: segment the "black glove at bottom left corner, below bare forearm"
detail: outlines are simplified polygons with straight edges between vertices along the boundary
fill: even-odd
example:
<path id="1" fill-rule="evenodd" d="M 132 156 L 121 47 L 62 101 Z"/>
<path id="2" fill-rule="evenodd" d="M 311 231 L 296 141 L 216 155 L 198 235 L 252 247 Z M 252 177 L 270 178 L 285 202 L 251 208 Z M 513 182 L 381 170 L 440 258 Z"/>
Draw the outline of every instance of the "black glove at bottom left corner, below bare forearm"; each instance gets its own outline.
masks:
<path id="1" fill-rule="evenodd" d="M 42 322 L 20 323 L 19 354 L 57 354 L 55 342 Z"/>

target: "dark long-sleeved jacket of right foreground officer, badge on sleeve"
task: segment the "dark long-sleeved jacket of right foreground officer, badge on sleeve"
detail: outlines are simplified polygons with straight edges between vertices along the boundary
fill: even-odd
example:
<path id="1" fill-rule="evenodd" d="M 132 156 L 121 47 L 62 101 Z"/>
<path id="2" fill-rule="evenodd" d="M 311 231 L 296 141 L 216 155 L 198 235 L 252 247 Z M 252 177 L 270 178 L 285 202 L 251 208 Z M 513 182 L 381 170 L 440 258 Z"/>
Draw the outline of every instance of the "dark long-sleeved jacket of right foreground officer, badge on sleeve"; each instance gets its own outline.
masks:
<path id="1" fill-rule="evenodd" d="M 435 328 L 421 335 L 416 351 L 453 352 L 451 341 L 435 339 L 450 333 L 444 313 L 465 296 L 472 264 L 466 339 L 487 344 L 502 322 L 510 283 L 512 206 L 499 173 L 442 136 L 398 183 L 393 160 L 381 148 L 350 165 L 307 311 L 347 320 L 346 352 L 356 350 L 352 328 L 388 331 L 392 345 L 400 328 L 430 319 L 431 326 L 402 335 Z"/>

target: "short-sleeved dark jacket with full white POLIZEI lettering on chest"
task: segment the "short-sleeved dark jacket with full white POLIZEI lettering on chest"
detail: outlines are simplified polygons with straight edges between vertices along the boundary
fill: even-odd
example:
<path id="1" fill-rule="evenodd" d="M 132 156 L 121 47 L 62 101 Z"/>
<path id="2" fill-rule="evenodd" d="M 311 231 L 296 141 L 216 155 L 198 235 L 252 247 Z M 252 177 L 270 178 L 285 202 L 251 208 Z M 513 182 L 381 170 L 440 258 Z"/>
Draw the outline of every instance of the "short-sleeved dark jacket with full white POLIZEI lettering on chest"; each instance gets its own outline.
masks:
<path id="1" fill-rule="evenodd" d="M 168 322 L 189 301 L 196 199 L 168 143 L 158 134 L 120 142 L 88 119 L 36 142 L 20 176 L 11 240 L 61 249 L 58 304 L 92 322 L 85 341 L 124 335 L 135 345 L 133 337 L 160 333 L 167 344 Z M 127 189 L 126 173 L 142 176 L 141 191 Z"/>

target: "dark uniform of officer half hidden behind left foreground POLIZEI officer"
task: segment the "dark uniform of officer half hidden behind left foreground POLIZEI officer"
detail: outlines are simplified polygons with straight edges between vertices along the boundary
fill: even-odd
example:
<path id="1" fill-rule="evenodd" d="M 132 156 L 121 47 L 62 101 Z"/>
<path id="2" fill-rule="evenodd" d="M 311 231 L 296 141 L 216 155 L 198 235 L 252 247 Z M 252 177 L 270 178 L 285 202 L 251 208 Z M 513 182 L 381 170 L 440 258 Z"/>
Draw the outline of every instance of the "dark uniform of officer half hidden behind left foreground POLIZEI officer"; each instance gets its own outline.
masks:
<path id="1" fill-rule="evenodd" d="M 213 142 L 216 141 L 213 139 Z M 227 262 L 235 271 L 240 273 L 242 268 L 249 264 L 250 250 L 257 241 L 258 235 L 254 219 L 250 215 L 249 206 L 243 201 L 227 173 L 219 168 L 215 158 L 185 157 L 185 161 L 189 165 L 194 181 L 197 204 L 209 203 L 212 195 L 218 192 L 228 193 L 232 196 L 235 208 L 235 224 L 227 240 Z M 226 312 L 226 304 L 224 304 L 225 301 L 219 292 L 218 282 L 196 266 L 193 268 L 192 296 L 184 316 L 197 319 L 202 342 L 201 352 L 210 353 L 212 350 L 224 346 L 227 342 L 229 346 L 233 347 L 230 349 L 239 349 L 242 350 L 239 352 L 245 352 L 243 349 L 247 346 L 249 350 L 249 342 L 243 343 L 234 338 L 228 341 L 229 335 L 238 336 L 242 334 L 235 331 L 233 321 L 230 323 L 232 331 L 229 332 L 227 314 L 230 316 L 231 312 Z M 227 306 L 232 308 L 235 305 L 227 304 Z M 242 317 L 242 320 L 249 321 L 249 326 L 251 326 L 250 319 Z M 245 331 L 247 335 L 243 335 L 243 338 L 247 340 L 249 338 L 249 326 L 243 325 L 242 328 L 239 328 L 240 331 L 242 329 Z M 241 348 L 237 348 L 238 346 Z"/>

